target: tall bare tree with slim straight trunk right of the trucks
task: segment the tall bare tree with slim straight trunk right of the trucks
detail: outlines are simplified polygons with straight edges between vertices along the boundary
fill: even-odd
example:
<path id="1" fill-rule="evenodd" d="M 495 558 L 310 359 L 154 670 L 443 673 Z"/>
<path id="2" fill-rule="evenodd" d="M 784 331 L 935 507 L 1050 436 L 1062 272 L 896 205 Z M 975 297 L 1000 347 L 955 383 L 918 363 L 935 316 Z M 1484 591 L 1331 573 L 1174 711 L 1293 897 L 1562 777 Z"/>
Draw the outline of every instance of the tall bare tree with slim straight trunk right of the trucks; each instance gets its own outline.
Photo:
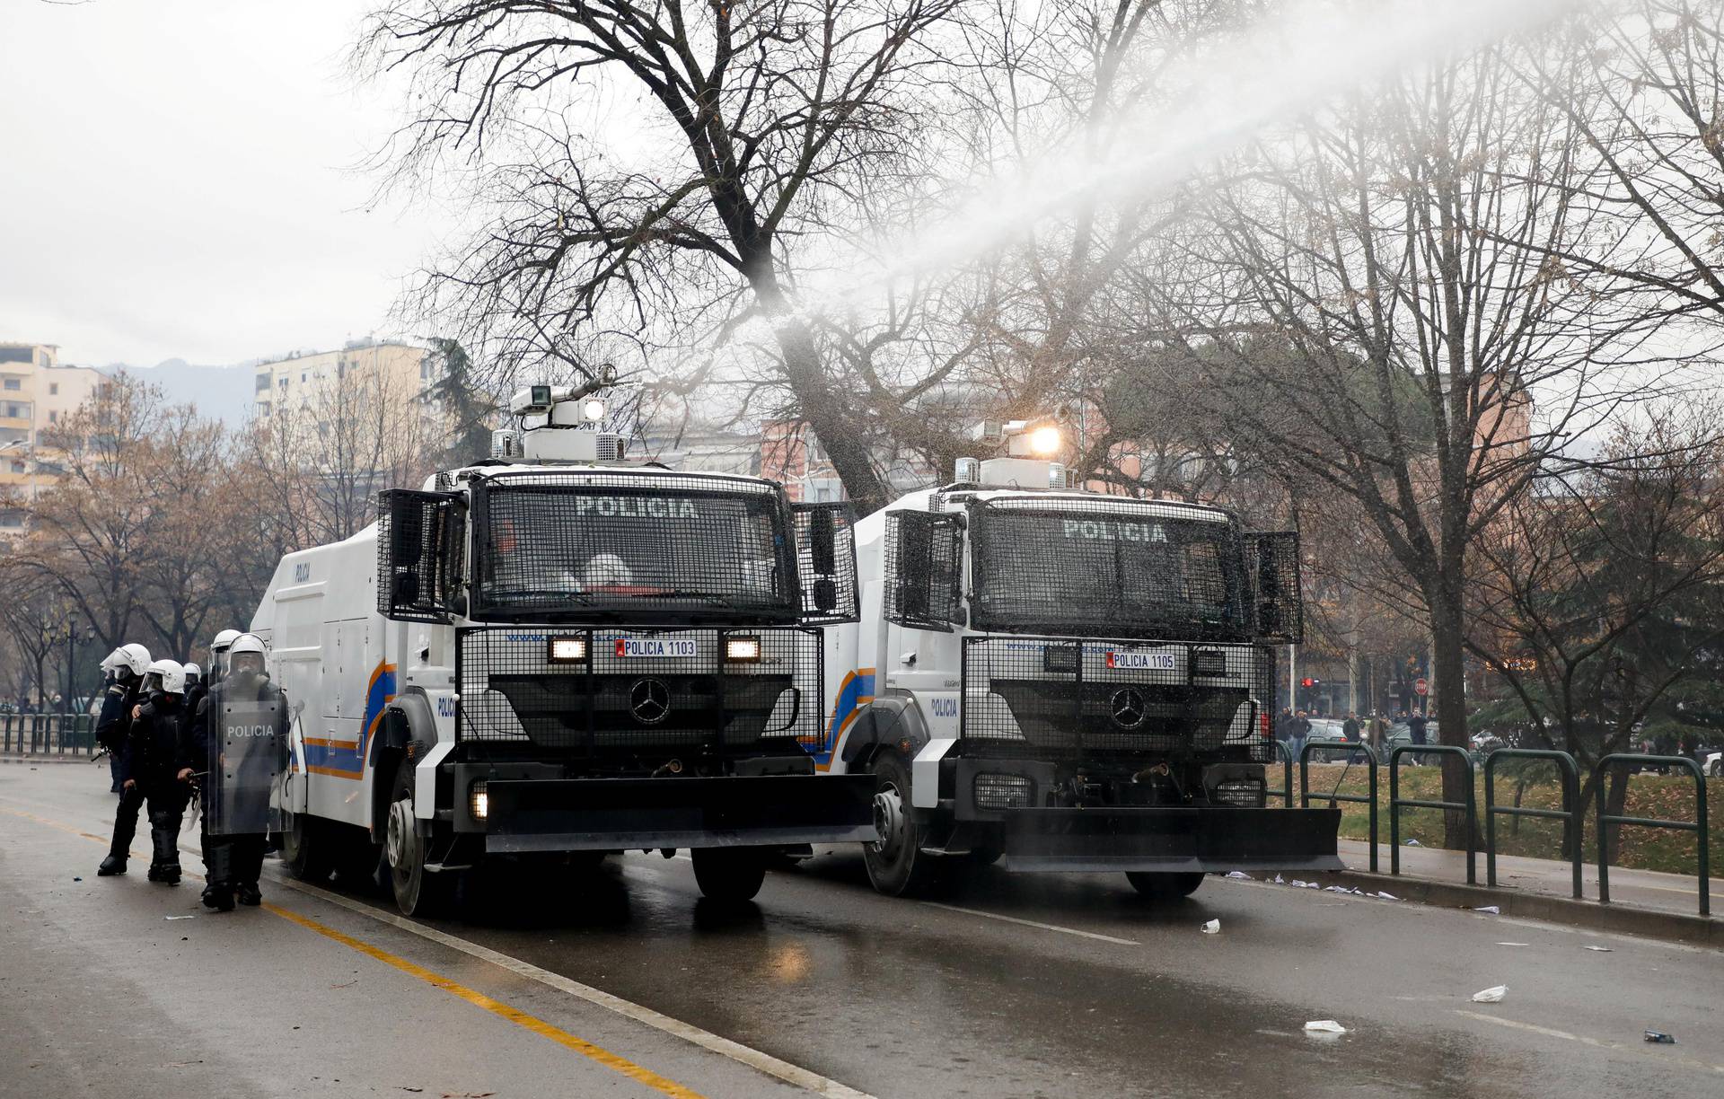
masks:
<path id="1" fill-rule="evenodd" d="M 1598 215 L 1572 202 L 1574 115 L 1514 78 L 1522 48 L 1395 78 L 1262 141 L 1191 241 L 1219 257 L 1207 293 L 1159 295 L 1148 334 L 1186 350 L 1184 407 L 1357 505 L 1429 622 L 1452 746 L 1469 555 L 1574 439 L 1660 388 L 1636 369 L 1657 319 L 1546 258 Z"/>

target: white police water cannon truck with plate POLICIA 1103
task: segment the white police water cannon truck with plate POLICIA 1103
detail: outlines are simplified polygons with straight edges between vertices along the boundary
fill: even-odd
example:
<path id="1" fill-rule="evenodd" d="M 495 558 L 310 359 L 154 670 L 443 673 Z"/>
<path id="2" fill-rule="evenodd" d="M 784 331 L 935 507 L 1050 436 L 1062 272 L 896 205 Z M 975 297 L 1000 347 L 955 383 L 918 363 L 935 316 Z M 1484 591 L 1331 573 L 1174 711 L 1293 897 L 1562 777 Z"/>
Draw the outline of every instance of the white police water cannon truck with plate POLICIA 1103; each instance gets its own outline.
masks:
<path id="1" fill-rule="evenodd" d="M 855 617 L 845 505 L 629 462 L 603 382 L 531 386 L 493 458 L 290 553 L 252 630 L 293 713 L 283 858 L 388 870 L 403 913 L 484 860 L 690 849 L 746 899 L 774 851 L 876 839 L 819 777 L 819 625 Z"/>

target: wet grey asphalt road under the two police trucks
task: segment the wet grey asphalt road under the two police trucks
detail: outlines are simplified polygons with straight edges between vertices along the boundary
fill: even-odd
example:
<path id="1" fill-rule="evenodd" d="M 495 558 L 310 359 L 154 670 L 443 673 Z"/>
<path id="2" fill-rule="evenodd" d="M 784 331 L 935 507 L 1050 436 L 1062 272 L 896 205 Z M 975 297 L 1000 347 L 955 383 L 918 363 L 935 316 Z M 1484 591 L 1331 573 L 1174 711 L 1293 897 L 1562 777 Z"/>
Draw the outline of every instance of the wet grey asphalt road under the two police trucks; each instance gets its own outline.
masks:
<path id="1" fill-rule="evenodd" d="M 26 1080 L 5 1059 L 38 1056 L 33 1042 L 55 1046 L 64 1039 L 53 1035 L 105 1018 L 102 987 L 116 970 L 131 999 L 159 1011 L 152 1025 L 176 1034 L 176 1049 L 240 1049 L 224 1054 L 233 1063 L 222 1078 L 279 1085 L 257 1094 L 653 1094 L 290 918 L 241 911 L 164 923 L 198 911 L 195 884 L 152 887 L 136 863 L 121 880 L 93 877 L 100 849 L 74 832 L 107 832 L 112 796 L 97 772 L 0 767 L 0 958 L 29 958 L 0 963 L 0 1030 L 10 1035 L 0 1037 L 0 1094 Z M 265 873 L 279 877 L 279 865 Z M 384 897 L 331 891 L 348 908 L 265 882 L 290 913 L 674 1085 L 795 1090 L 365 915 L 391 916 Z M 1200 932 L 1210 918 L 1221 934 Z M 826 853 L 771 873 L 753 906 L 719 911 L 698 899 L 686 860 L 633 854 L 557 882 L 476 882 L 464 920 L 419 925 L 872 1096 L 1724 1096 L 1724 953 L 1284 885 L 1210 879 L 1190 901 L 1148 904 L 1122 875 L 979 870 L 917 903 L 874 894 L 859 856 Z M 90 928 L 102 947 L 76 949 Z M 219 937 L 203 947 L 214 953 L 197 954 L 198 977 L 183 990 L 150 984 L 166 954 L 191 949 L 162 928 Z M 138 947 L 138 935 L 164 942 Z M 50 941 L 64 949 L 34 951 Z M 174 965 L 184 970 L 184 959 Z M 253 972 L 291 987 L 274 990 L 255 1020 L 267 1046 L 247 1052 L 231 1044 L 233 1020 L 247 1011 Z M 1471 1001 L 1498 984 L 1508 985 L 1503 1003 Z M 197 1006 L 176 1006 L 188 996 Z M 1303 1023 L 1319 1018 L 1350 1034 L 1307 1037 Z M 1645 1044 L 1648 1027 L 1679 1044 Z M 136 1059 L 157 1040 L 150 1034 L 141 1021 L 110 1021 L 76 1061 L 31 1070 L 19 1094 L 136 1085 L 100 1066 Z M 176 1082 L 209 1070 L 152 1071 L 190 1094 Z"/>

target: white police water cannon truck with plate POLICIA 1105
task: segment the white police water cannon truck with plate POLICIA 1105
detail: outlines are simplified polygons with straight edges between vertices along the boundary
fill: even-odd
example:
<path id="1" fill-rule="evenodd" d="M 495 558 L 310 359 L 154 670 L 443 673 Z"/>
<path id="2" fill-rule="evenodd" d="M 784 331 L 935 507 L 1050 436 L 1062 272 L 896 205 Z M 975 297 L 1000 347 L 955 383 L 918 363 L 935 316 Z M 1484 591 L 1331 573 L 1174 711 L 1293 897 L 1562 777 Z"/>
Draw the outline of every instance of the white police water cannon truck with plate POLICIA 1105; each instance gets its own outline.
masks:
<path id="1" fill-rule="evenodd" d="M 1336 810 L 1265 808 L 1274 646 L 1300 641 L 1298 536 L 1072 486 L 1057 419 L 857 524 L 862 615 L 826 630 L 819 767 L 872 775 L 874 887 L 959 856 L 1122 870 L 1340 870 Z"/>

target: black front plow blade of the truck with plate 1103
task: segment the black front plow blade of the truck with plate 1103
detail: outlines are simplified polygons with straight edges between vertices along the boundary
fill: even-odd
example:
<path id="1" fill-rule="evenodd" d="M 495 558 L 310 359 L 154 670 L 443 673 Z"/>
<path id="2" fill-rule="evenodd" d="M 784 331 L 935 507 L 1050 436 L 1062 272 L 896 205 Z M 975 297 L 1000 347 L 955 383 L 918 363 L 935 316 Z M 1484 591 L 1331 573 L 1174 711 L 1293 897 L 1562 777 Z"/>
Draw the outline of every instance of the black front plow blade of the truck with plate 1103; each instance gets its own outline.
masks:
<path id="1" fill-rule="evenodd" d="M 872 775 L 491 780 L 484 849 L 876 842 Z"/>

